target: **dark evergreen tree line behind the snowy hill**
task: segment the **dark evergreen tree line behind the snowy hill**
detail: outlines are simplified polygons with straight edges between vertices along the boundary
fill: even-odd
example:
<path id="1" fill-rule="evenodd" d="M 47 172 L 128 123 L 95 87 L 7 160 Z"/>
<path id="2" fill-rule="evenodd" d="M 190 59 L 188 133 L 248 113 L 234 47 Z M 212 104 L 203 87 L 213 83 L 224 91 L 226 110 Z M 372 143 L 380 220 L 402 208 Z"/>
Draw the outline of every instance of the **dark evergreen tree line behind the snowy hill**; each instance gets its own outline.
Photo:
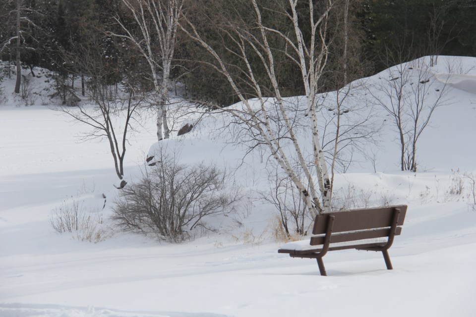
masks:
<path id="1" fill-rule="evenodd" d="M 145 10 L 144 24 L 138 24 L 134 8 L 143 2 Z M 285 16 L 273 6 L 287 6 L 288 1 L 258 1 L 267 4 L 264 18 L 272 20 L 278 27 L 285 23 Z M 316 7 L 326 1 L 312 1 Z M 154 9 L 154 3 L 157 4 Z M 120 82 L 124 78 L 134 78 L 144 87 L 161 85 L 163 78 L 170 78 L 171 83 L 180 82 L 187 87 L 187 93 L 196 99 L 206 99 L 220 105 L 229 105 L 238 101 L 238 97 L 228 87 L 222 76 L 206 63 L 213 60 L 178 29 L 177 34 L 169 34 L 169 48 L 159 48 L 164 39 L 161 32 L 151 34 L 149 48 L 142 42 L 134 45 L 130 41 L 144 27 L 154 28 L 153 16 L 160 22 L 160 14 L 173 16 L 173 8 L 179 3 L 181 12 L 194 21 L 194 26 L 208 33 L 209 43 L 222 50 L 233 46 L 220 23 L 234 20 L 236 23 L 248 23 L 244 16 L 253 16 L 250 1 L 122 1 L 122 0 L 6 0 L 0 7 L 0 57 L 11 61 L 17 67 L 29 68 L 39 66 L 58 73 L 58 94 L 64 98 L 65 81 L 68 76 L 84 80 L 85 75 L 71 63 L 70 56 L 84 51 L 95 52 L 98 58 L 106 59 L 109 74 L 105 81 Z M 306 1 L 297 2 L 297 12 L 304 16 L 307 10 Z M 155 13 L 154 13 L 155 12 Z M 178 13 L 178 11 L 176 12 Z M 387 68 L 397 62 L 403 62 L 423 55 L 476 55 L 476 1 L 475 0 L 340 0 L 333 1 L 329 16 L 329 27 L 326 37 L 331 40 L 329 45 L 328 70 L 323 74 L 320 91 L 334 90 L 342 86 L 343 81 L 367 76 Z M 179 16 L 176 17 L 179 19 Z M 164 22 L 167 19 L 164 18 Z M 221 21 L 221 22 L 220 22 Z M 305 19 L 299 21 L 302 36 L 310 40 L 310 30 Z M 167 32 L 171 25 L 159 26 Z M 289 27 L 289 26 L 288 26 Z M 288 30 L 291 31 L 291 30 Z M 164 33 L 165 34 L 165 33 Z M 116 36 L 115 36 L 116 35 Z M 167 38 L 169 35 L 165 34 Z M 146 36 L 147 37 L 147 36 Z M 345 42 L 343 39 L 347 38 Z M 277 40 L 278 41 L 278 40 Z M 281 46 L 283 56 L 286 44 Z M 173 54 L 167 56 L 165 51 Z M 142 50 L 142 51 L 141 51 Z M 145 51 L 144 51 L 145 50 Z M 342 64 L 339 59 L 347 56 Z M 151 60 L 144 59 L 144 53 L 162 52 L 155 58 L 157 65 L 151 66 Z M 389 53 L 391 52 L 391 53 Z M 405 52 L 404 57 L 401 52 Z M 230 59 L 233 59 L 230 52 Z M 154 56 L 150 56 L 154 57 Z M 163 58 L 164 57 L 164 58 Z M 239 58 L 236 57 L 238 60 Z M 303 93 L 304 87 L 299 80 L 299 71 L 284 57 L 276 61 L 280 63 L 279 80 L 283 94 L 295 96 Z M 160 65 L 159 65 L 160 64 Z M 159 73 L 169 73 L 154 79 L 154 69 Z M 263 78 L 266 77 L 260 74 Z M 239 72 L 237 70 L 237 72 Z M 237 73 L 238 75 L 238 73 Z M 344 78 L 345 77 L 345 78 Z M 21 78 L 15 92 L 19 92 Z M 84 85 L 84 83 L 82 83 Z M 60 88 L 63 88 L 62 90 Z M 164 88 L 161 88 L 164 89 Z M 156 90 L 159 88 L 156 87 Z M 252 94 L 251 94 L 252 95 Z M 161 102 L 160 100 L 158 101 Z"/>

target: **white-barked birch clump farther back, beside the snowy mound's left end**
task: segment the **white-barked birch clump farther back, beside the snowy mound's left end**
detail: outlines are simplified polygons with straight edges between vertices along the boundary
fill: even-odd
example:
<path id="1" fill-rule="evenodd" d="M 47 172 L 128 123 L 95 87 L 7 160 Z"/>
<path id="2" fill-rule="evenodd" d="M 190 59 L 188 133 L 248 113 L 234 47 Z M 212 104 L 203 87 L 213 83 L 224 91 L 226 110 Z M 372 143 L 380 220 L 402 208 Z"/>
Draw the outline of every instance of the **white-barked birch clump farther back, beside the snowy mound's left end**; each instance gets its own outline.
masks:
<path id="1" fill-rule="evenodd" d="M 117 16 L 115 20 L 123 34 L 110 33 L 133 43 L 147 61 L 150 79 L 157 93 L 157 139 L 168 139 L 170 75 L 183 0 L 121 0 L 121 3 L 134 21 L 134 26 Z"/>

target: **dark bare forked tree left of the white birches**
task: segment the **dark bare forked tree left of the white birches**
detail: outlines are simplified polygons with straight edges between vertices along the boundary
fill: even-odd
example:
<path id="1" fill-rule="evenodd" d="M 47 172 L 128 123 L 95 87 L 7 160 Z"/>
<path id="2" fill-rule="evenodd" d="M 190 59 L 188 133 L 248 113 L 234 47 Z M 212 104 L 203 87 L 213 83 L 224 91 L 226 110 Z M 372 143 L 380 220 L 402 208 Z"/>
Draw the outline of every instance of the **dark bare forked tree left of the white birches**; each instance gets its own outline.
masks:
<path id="1" fill-rule="evenodd" d="M 122 180 L 127 135 L 133 130 L 132 123 L 137 119 L 139 108 L 144 106 L 145 97 L 136 94 L 132 85 L 126 85 L 117 93 L 112 89 L 111 69 L 98 48 L 77 47 L 74 54 L 64 55 L 64 60 L 76 71 L 89 75 L 86 95 L 93 106 L 79 103 L 74 107 L 63 105 L 59 110 L 92 128 L 83 134 L 83 140 L 105 138 L 108 141 L 116 174 Z M 125 182 L 121 182 L 120 186 L 124 185 Z"/>

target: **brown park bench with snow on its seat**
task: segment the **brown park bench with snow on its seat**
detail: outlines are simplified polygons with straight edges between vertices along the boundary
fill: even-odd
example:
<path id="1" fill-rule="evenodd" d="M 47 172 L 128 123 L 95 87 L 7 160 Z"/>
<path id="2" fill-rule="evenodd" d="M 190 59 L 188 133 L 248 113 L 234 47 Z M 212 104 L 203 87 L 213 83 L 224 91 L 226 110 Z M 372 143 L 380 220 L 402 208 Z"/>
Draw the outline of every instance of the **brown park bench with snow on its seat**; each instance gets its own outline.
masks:
<path id="1" fill-rule="evenodd" d="M 357 249 L 380 251 L 388 269 L 393 269 L 388 249 L 402 232 L 407 206 L 389 206 L 322 213 L 316 216 L 310 243 L 290 242 L 278 250 L 293 258 L 316 259 L 321 275 L 327 276 L 322 258 L 328 251 Z"/>

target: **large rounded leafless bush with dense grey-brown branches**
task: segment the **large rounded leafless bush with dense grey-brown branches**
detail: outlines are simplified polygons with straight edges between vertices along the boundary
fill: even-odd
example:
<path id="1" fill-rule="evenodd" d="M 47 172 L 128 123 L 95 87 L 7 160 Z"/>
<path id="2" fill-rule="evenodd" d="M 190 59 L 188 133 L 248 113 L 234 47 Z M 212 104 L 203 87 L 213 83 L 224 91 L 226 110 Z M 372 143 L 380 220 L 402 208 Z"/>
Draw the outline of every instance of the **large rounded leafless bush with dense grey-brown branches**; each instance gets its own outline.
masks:
<path id="1" fill-rule="evenodd" d="M 239 194 L 229 186 L 229 176 L 214 165 L 187 166 L 161 153 L 140 181 L 121 190 L 113 219 L 122 230 L 160 240 L 191 239 L 189 231 L 211 229 L 204 218 L 234 210 Z"/>

